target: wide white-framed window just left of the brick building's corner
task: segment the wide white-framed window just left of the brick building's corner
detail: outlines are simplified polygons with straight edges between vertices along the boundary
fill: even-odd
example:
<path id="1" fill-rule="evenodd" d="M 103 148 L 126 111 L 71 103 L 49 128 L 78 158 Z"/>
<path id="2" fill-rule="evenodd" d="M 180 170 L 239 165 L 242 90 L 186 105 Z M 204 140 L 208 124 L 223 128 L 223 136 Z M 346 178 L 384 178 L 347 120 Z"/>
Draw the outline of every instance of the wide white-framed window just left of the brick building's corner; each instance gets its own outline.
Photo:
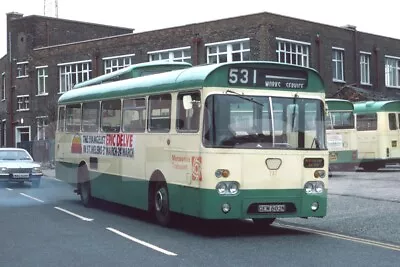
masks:
<path id="1" fill-rule="evenodd" d="M 207 63 L 250 60 L 250 38 L 206 44 Z"/>

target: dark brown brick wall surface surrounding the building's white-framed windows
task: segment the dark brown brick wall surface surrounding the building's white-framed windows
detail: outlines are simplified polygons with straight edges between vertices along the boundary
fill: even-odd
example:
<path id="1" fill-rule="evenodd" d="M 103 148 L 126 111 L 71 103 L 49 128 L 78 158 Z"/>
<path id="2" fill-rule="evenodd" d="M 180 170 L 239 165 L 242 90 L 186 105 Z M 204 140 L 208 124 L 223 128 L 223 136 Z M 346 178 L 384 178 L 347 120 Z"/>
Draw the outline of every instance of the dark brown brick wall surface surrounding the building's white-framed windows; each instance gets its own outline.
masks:
<path id="1" fill-rule="evenodd" d="M 277 61 L 276 38 L 308 43 L 310 45 L 309 66 L 320 72 L 325 81 L 328 96 L 333 95 L 346 84 L 383 92 L 387 95 L 400 92 L 400 89 L 385 87 L 384 57 L 385 55 L 400 57 L 400 40 L 358 32 L 354 28 L 333 27 L 270 13 L 123 36 L 109 35 L 116 34 L 118 31 L 123 32 L 125 29 L 103 29 L 101 28 L 103 26 L 96 28 L 97 26 L 89 24 L 85 26 L 88 27 L 87 30 L 79 29 L 79 32 L 75 32 L 78 27 L 73 22 L 38 16 L 15 19 L 10 22 L 10 25 L 14 35 L 19 38 L 16 42 L 22 43 L 20 37 L 29 40 L 25 46 L 18 44 L 13 48 L 13 55 L 16 55 L 18 60 L 29 60 L 29 77 L 14 78 L 14 80 L 15 94 L 30 94 L 31 110 L 17 112 L 15 117 L 19 119 L 23 115 L 24 121 L 32 124 L 33 131 L 36 131 L 35 118 L 49 114 L 60 95 L 57 64 L 91 60 L 92 77 L 95 77 L 104 73 L 102 61 L 104 57 L 135 54 L 133 63 L 139 63 L 149 61 L 148 52 L 150 51 L 187 46 L 191 47 L 191 59 L 194 65 L 206 64 L 206 44 L 243 38 L 250 38 L 251 60 Z M 57 35 L 63 32 L 68 34 Z M 47 33 L 51 33 L 50 37 Z M 99 39 L 100 36 L 103 38 Z M 77 42 L 79 40 L 81 42 Z M 344 82 L 334 82 L 332 79 L 332 47 L 338 47 L 344 51 Z M 360 84 L 360 51 L 370 53 L 371 85 Z M 37 72 L 35 68 L 43 65 L 48 66 L 48 95 L 36 96 Z M 4 110 L 4 103 L 0 103 L 0 110 Z M 4 116 L 4 113 L 2 114 Z"/>

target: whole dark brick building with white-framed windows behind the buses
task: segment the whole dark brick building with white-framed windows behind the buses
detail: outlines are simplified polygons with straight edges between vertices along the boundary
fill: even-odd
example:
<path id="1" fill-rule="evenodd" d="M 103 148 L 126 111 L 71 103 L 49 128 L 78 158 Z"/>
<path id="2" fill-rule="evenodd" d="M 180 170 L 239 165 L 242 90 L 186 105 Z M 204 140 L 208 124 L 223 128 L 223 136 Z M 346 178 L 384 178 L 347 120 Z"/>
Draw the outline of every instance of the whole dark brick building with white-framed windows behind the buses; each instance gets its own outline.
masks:
<path id="1" fill-rule="evenodd" d="M 60 94 L 78 82 L 153 60 L 193 65 L 279 61 L 317 69 L 328 96 L 351 85 L 400 97 L 400 40 L 359 32 L 354 26 L 334 27 L 264 12 L 132 31 L 7 14 L 7 55 L 0 59 L 1 145 L 51 139 Z"/>

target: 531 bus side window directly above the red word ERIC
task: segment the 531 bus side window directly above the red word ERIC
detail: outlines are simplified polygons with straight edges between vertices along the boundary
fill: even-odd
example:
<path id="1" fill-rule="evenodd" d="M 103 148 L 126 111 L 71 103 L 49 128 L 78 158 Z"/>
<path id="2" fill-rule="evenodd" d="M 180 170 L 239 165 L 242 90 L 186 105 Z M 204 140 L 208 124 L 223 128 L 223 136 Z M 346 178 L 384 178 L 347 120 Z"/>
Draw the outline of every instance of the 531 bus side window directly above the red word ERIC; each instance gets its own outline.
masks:
<path id="1" fill-rule="evenodd" d="M 121 126 L 121 100 L 101 102 L 101 130 L 106 133 L 119 133 Z"/>

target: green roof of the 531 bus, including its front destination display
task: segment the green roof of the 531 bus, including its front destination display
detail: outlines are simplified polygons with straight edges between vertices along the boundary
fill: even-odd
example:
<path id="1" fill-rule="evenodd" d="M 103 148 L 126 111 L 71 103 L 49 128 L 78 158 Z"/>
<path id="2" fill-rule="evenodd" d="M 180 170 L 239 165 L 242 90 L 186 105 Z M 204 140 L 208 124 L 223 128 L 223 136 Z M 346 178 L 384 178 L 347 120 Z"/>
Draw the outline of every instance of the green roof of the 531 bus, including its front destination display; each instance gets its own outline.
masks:
<path id="1" fill-rule="evenodd" d="M 325 93 L 323 80 L 314 69 L 277 62 L 242 61 L 195 66 L 73 89 L 64 93 L 58 103 L 67 104 L 202 87 Z"/>

